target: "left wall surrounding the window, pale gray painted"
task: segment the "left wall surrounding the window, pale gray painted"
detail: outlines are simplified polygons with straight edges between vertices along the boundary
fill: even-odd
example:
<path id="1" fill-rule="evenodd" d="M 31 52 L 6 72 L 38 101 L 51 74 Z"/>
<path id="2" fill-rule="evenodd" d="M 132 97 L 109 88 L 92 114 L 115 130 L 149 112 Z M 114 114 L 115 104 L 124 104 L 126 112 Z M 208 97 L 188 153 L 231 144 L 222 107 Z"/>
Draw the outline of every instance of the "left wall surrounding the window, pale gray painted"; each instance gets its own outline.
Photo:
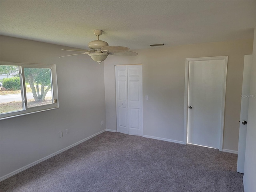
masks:
<path id="1" fill-rule="evenodd" d="M 1 36 L 1 61 L 56 64 L 60 106 L 1 120 L 1 177 L 106 129 L 103 64 L 62 48 Z"/>

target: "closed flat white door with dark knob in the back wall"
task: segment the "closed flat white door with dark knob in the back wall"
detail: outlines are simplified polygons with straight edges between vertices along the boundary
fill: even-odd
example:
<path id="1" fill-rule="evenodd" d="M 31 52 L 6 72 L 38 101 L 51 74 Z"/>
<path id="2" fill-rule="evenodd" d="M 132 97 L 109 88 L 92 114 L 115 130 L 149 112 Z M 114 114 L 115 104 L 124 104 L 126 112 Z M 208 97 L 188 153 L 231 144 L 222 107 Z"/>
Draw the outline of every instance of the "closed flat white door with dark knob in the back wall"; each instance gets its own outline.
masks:
<path id="1" fill-rule="evenodd" d="M 187 141 L 190 144 L 220 149 L 226 66 L 227 56 L 189 61 Z"/>

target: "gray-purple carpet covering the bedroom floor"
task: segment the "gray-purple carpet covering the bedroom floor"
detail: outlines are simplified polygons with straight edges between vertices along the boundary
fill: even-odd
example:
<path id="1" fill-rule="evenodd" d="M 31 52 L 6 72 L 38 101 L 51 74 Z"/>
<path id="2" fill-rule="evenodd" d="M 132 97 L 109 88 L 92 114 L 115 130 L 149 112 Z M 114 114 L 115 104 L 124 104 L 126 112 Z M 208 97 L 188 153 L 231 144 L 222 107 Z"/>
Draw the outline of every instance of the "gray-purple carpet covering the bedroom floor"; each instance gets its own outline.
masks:
<path id="1" fill-rule="evenodd" d="M 243 192 L 237 155 L 104 132 L 1 182 L 1 192 Z"/>

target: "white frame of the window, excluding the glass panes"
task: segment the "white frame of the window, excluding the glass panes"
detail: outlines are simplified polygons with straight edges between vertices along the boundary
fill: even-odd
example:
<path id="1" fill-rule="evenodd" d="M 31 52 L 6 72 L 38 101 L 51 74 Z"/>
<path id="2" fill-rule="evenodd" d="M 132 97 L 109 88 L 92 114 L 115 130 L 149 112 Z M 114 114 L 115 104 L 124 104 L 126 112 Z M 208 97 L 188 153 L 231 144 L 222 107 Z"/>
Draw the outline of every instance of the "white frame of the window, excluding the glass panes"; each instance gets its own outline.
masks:
<path id="1" fill-rule="evenodd" d="M 59 108 L 58 102 L 58 86 L 57 86 L 57 73 L 56 73 L 56 65 L 55 64 L 32 64 L 32 63 L 20 63 L 20 62 L 0 62 L 1 65 L 13 65 L 19 67 L 20 74 L 20 90 L 22 97 L 22 110 L 14 111 L 14 112 L 6 112 L 0 114 L 0 120 L 34 114 L 42 111 L 52 110 Z M 52 84 L 52 104 L 46 104 L 42 106 L 35 106 L 28 108 L 27 100 L 26 100 L 26 84 L 25 84 L 25 76 L 24 68 L 48 68 L 50 69 L 51 75 L 51 84 Z"/>

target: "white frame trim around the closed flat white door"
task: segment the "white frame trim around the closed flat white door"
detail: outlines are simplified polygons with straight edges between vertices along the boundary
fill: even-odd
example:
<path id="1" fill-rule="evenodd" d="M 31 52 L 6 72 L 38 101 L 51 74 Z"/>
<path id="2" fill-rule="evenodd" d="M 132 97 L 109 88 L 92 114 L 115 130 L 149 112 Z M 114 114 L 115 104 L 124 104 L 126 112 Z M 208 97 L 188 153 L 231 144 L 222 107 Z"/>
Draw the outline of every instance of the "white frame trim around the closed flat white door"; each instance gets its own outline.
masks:
<path id="1" fill-rule="evenodd" d="M 200 57 L 200 58 L 186 58 L 185 65 L 185 92 L 184 92 L 184 139 L 183 143 L 188 143 L 188 86 L 189 86 L 189 62 L 190 61 L 209 61 L 209 60 L 223 60 L 224 61 L 224 76 L 222 101 L 221 101 L 221 115 L 220 115 L 220 140 L 219 150 L 222 151 L 223 146 L 223 131 L 224 131 L 224 111 L 225 111 L 225 96 L 226 96 L 226 77 L 227 77 L 227 66 L 228 56 L 216 56 L 216 57 Z"/>

